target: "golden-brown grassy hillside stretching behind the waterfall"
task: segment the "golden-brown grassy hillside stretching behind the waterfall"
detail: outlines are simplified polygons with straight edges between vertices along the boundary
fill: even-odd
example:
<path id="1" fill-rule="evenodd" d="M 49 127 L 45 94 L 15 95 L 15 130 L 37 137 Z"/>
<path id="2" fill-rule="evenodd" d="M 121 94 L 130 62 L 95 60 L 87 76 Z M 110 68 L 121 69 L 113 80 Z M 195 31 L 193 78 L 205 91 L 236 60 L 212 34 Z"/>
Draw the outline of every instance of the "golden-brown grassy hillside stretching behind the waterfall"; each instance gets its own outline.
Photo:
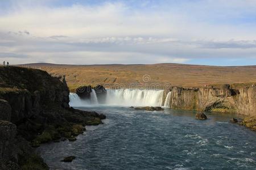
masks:
<path id="1" fill-rule="evenodd" d="M 55 65 L 32 63 L 23 65 L 46 70 L 49 74 L 65 75 L 69 87 L 80 84 L 123 84 L 129 87 L 138 83 L 144 85 L 143 75 L 149 75 L 149 83 L 172 86 L 204 86 L 204 84 L 233 84 L 256 82 L 256 66 L 201 66 L 176 63 L 154 65 Z M 147 77 L 145 78 L 147 79 Z M 148 80 L 148 79 L 147 79 Z"/>

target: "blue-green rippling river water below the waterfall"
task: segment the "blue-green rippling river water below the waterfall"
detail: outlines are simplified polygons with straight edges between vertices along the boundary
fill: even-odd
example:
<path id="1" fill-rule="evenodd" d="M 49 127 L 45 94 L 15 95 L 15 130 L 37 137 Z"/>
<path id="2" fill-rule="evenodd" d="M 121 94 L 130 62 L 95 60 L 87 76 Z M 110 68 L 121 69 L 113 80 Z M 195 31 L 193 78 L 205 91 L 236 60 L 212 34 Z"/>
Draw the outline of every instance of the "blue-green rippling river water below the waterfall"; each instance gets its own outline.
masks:
<path id="1" fill-rule="evenodd" d="M 229 122 L 232 115 L 122 107 L 79 108 L 104 113 L 76 142 L 39 147 L 52 169 L 256 169 L 256 132 Z M 72 163 L 60 162 L 76 156 Z"/>

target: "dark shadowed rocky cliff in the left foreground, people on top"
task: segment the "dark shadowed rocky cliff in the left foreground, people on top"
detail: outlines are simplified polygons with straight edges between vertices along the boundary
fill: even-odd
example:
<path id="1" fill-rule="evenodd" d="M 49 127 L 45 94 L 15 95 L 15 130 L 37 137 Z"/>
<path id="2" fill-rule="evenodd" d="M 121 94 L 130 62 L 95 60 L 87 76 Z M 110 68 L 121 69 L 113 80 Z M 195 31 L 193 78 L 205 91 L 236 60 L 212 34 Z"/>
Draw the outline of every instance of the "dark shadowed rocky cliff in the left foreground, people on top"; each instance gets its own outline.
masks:
<path id="1" fill-rule="evenodd" d="M 32 147 L 76 140 L 103 114 L 69 108 L 65 78 L 46 71 L 0 67 L 0 169 L 48 169 Z"/>

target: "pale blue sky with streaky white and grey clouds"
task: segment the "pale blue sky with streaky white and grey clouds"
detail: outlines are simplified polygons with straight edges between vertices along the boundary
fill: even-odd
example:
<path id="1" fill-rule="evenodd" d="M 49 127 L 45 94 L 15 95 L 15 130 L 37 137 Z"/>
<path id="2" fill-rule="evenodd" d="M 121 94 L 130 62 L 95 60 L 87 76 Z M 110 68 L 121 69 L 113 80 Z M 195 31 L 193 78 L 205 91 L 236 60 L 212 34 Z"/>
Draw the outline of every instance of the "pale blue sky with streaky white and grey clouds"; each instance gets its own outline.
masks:
<path id="1" fill-rule="evenodd" d="M 0 62 L 256 65 L 256 0 L 0 0 Z"/>

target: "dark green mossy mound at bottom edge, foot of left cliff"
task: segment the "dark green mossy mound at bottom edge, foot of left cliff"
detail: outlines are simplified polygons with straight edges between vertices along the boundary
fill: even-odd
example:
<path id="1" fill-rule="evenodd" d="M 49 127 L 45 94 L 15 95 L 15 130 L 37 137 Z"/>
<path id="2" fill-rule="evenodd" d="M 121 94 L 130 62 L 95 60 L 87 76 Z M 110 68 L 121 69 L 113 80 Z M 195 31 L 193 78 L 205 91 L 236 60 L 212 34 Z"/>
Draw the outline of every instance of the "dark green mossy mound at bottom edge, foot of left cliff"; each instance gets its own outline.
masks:
<path id="1" fill-rule="evenodd" d="M 21 163 L 22 170 L 47 170 L 49 167 L 38 155 L 30 155 L 23 159 Z"/>

